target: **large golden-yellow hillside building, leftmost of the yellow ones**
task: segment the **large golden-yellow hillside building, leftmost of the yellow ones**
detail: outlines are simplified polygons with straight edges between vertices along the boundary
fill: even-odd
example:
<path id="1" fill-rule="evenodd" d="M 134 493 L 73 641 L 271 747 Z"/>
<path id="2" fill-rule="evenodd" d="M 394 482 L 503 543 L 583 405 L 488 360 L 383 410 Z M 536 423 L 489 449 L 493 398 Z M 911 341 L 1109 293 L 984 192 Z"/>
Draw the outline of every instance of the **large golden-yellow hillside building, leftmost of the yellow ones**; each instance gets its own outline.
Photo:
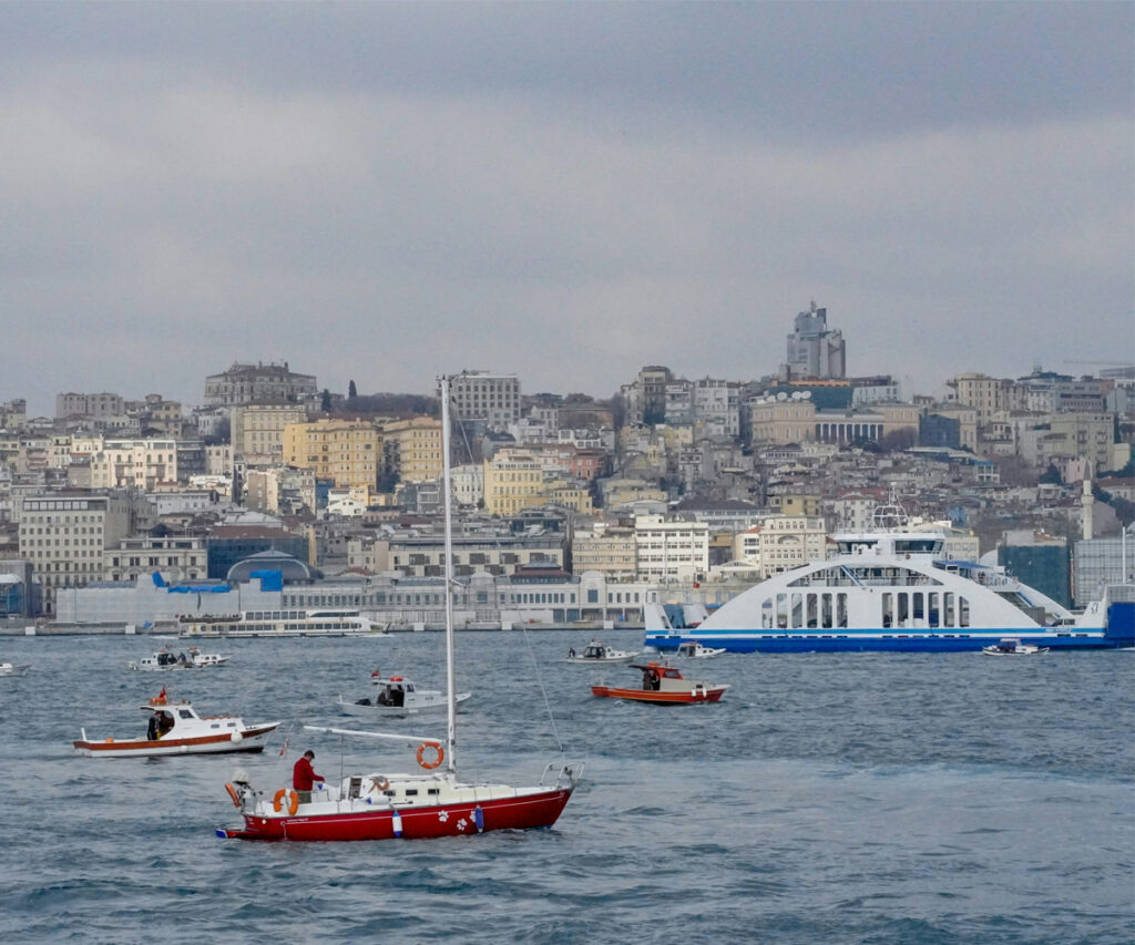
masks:
<path id="1" fill-rule="evenodd" d="M 288 423 L 283 437 L 284 462 L 312 470 L 336 486 L 370 489 L 378 483 L 382 436 L 365 420 L 313 420 Z"/>

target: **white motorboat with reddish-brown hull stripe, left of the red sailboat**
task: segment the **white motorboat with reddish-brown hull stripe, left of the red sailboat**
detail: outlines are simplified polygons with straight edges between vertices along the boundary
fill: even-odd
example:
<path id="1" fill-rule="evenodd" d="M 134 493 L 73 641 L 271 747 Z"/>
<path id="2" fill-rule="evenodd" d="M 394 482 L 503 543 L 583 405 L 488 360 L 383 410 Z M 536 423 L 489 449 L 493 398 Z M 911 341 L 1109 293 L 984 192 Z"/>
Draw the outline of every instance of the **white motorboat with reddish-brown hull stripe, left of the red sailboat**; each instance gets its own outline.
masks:
<path id="1" fill-rule="evenodd" d="M 141 739 L 91 740 L 86 729 L 74 742 L 75 750 L 89 758 L 153 758 L 162 754 L 218 754 L 235 751 L 263 751 L 278 722 L 245 725 L 236 716 L 199 716 L 186 700 L 173 702 L 166 690 L 140 706 L 150 714 L 146 734 Z"/>

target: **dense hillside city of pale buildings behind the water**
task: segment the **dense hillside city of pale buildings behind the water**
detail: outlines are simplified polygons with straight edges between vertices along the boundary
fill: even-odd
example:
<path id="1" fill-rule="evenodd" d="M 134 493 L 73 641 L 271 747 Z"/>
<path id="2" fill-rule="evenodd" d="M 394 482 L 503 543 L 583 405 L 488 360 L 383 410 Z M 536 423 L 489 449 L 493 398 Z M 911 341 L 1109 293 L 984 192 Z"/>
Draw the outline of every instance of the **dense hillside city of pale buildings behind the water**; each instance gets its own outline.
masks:
<path id="1" fill-rule="evenodd" d="M 915 395 L 848 376 L 813 303 L 759 380 L 646 365 L 602 399 L 469 370 L 452 380 L 460 626 L 722 604 L 871 529 L 878 506 L 1084 606 L 1135 565 L 1135 365 L 1084 366 L 962 372 Z M 437 398 L 323 383 L 235 363 L 200 405 L 67 391 L 30 417 L 0 403 L 0 617 L 143 624 L 236 588 L 245 609 L 437 625 Z"/>

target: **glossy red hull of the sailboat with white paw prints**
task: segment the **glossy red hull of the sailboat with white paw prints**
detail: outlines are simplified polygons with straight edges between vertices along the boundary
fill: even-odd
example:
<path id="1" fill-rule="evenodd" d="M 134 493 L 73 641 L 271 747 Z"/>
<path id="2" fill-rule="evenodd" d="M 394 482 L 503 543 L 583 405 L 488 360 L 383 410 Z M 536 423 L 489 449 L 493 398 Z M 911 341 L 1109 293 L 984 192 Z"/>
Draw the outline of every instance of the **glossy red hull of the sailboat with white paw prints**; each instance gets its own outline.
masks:
<path id="1" fill-rule="evenodd" d="M 245 815 L 243 830 L 221 828 L 217 833 L 239 839 L 355 841 L 395 839 L 400 836 L 403 839 L 426 839 L 486 830 L 527 830 L 555 824 L 570 798 L 570 790 L 560 788 L 526 798 L 395 811 L 272 818 Z"/>

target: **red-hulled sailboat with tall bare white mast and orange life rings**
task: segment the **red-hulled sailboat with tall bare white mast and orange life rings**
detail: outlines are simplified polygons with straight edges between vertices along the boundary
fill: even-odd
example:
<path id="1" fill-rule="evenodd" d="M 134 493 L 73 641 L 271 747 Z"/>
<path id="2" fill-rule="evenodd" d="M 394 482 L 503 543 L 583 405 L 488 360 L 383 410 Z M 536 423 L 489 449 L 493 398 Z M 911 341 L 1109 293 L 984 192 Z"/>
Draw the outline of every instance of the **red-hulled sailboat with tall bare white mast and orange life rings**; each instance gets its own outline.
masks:
<path id="1" fill-rule="evenodd" d="M 445 481 L 445 576 L 453 582 L 453 524 L 449 490 L 449 379 L 440 379 Z M 453 594 L 445 596 L 448 728 L 444 742 L 428 736 L 389 735 L 305 726 L 309 731 L 417 744 L 422 770 L 388 774 L 372 769 L 338 783 L 316 783 L 311 791 L 257 790 L 244 771 L 225 787 L 244 819 L 242 827 L 219 828 L 218 836 L 241 839 L 347 841 L 440 837 L 485 830 L 550 827 L 583 773 L 582 762 L 550 763 L 539 782 L 523 787 L 457 779 L 456 682 Z M 444 770 L 438 770 L 442 765 Z"/>

